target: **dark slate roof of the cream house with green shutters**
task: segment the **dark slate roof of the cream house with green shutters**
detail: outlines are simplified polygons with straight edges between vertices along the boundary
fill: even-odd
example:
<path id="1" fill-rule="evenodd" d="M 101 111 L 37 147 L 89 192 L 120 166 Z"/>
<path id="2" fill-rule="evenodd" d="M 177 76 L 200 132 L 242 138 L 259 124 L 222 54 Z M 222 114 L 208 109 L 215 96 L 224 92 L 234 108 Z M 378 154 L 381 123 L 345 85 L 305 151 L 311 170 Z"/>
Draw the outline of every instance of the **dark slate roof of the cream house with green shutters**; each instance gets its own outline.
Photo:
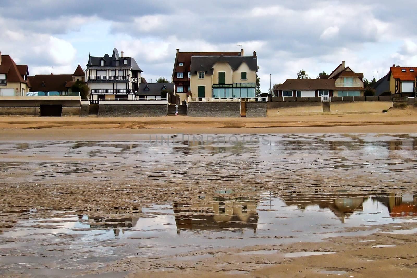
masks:
<path id="1" fill-rule="evenodd" d="M 203 71 L 213 74 L 213 66 L 217 62 L 229 63 L 233 70 L 237 70 L 242 63 L 246 63 L 251 70 L 258 70 L 257 56 L 192 56 L 190 73 L 196 74 Z"/>

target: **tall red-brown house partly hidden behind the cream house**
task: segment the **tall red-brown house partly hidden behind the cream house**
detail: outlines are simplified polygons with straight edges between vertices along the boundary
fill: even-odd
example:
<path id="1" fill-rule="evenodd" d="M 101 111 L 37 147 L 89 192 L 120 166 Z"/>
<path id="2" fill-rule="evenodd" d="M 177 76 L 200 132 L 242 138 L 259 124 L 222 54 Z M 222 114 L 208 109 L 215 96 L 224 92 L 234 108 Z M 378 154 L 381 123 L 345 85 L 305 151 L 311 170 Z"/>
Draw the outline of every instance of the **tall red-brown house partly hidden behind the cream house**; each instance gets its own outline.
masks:
<path id="1" fill-rule="evenodd" d="M 180 103 L 183 103 L 191 95 L 190 85 L 190 67 L 193 56 L 243 56 L 244 50 L 238 52 L 179 52 L 175 56 L 174 68 L 172 71 L 172 82 L 175 85 L 175 92 L 180 97 Z"/>

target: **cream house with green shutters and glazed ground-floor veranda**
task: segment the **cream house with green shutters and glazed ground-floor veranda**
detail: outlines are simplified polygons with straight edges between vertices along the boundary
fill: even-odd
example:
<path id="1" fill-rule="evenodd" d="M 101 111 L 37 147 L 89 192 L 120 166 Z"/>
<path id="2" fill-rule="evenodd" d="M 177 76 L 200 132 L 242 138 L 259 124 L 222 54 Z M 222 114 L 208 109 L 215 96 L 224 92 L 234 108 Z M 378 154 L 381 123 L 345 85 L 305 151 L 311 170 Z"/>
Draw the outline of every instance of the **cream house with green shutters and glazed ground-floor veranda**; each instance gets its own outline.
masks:
<path id="1" fill-rule="evenodd" d="M 191 98 L 255 98 L 258 58 L 192 56 Z"/>

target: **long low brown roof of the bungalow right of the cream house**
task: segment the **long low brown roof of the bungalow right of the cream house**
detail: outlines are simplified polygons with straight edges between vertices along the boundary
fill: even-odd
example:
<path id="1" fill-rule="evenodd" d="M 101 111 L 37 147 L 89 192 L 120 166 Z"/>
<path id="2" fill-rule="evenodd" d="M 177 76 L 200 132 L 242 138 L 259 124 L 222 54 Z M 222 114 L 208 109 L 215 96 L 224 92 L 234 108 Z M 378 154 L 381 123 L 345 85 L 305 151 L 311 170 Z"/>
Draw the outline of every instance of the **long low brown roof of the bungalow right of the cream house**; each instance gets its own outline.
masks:
<path id="1" fill-rule="evenodd" d="M 287 79 L 278 90 L 364 90 L 363 87 L 336 87 L 334 79 Z"/>

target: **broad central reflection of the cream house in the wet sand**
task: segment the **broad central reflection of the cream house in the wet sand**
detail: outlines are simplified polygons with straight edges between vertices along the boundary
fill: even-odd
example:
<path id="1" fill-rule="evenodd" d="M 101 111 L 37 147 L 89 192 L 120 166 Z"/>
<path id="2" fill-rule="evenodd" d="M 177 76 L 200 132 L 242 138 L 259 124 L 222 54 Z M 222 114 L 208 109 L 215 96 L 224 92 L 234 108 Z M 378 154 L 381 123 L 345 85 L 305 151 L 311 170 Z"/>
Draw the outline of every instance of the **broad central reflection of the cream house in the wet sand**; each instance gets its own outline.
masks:
<path id="1" fill-rule="evenodd" d="M 217 230 L 258 227 L 258 201 L 250 198 L 212 198 L 213 201 L 173 203 L 178 229 Z"/>

